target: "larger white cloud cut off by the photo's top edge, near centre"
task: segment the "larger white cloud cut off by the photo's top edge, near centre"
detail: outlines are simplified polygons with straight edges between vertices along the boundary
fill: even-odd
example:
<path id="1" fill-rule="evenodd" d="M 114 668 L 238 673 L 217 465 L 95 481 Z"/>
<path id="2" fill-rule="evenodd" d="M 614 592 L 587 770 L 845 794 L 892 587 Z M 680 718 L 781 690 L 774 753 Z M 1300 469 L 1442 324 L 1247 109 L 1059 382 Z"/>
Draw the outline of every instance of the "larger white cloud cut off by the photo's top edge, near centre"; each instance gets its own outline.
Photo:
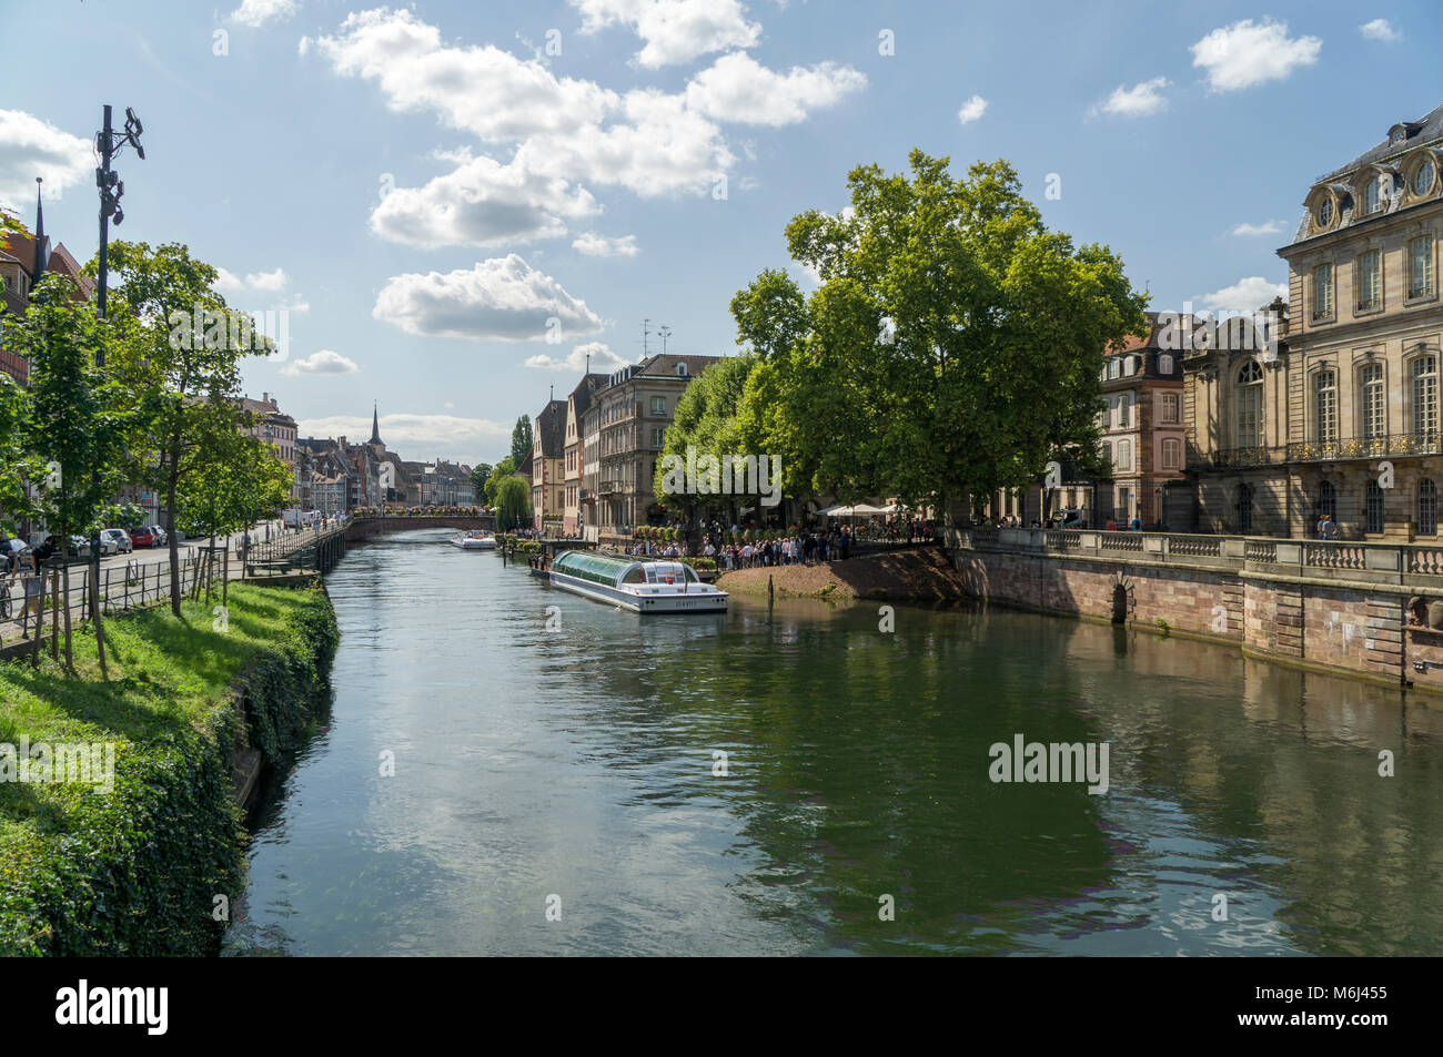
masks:
<path id="1" fill-rule="evenodd" d="M 636 53 L 636 63 L 646 69 L 750 48 L 762 35 L 739 0 L 571 0 L 571 6 L 584 16 L 583 33 L 629 26 L 646 42 Z"/>

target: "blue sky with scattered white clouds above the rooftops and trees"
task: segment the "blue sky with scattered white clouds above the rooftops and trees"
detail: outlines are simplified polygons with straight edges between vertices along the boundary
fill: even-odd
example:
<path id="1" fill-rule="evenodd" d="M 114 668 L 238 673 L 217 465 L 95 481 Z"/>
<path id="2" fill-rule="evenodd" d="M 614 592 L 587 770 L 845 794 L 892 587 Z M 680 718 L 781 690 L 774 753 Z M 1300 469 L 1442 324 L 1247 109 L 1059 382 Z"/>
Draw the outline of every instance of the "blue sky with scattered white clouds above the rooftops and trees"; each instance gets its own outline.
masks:
<path id="1" fill-rule="evenodd" d="M 1374 17 L 1375 12 L 1380 12 Z M 1153 309 L 1286 296 L 1312 180 L 1443 102 L 1443 9 L 1333 3 L 0 0 L 0 203 L 97 249 L 101 105 L 140 117 L 113 238 L 183 242 L 302 435 L 495 463 L 553 388 L 732 355 L 729 303 L 859 164 L 1007 159 Z M 284 313 L 284 316 L 281 314 Z"/>

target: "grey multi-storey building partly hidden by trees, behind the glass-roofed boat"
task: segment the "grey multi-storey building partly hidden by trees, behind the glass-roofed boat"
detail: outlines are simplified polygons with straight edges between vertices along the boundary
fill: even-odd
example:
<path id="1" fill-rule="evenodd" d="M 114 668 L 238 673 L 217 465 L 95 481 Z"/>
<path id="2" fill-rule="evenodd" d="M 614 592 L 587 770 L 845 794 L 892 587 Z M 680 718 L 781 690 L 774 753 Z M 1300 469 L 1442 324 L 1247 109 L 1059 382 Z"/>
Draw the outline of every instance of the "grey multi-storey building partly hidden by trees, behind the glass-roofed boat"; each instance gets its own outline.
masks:
<path id="1" fill-rule="evenodd" d="M 652 482 L 677 401 L 717 356 L 648 356 L 620 368 L 595 397 L 596 519 L 602 547 L 626 547 L 639 525 L 661 525 Z M 584 427 L 583 427 L 584 433 Z"/>

